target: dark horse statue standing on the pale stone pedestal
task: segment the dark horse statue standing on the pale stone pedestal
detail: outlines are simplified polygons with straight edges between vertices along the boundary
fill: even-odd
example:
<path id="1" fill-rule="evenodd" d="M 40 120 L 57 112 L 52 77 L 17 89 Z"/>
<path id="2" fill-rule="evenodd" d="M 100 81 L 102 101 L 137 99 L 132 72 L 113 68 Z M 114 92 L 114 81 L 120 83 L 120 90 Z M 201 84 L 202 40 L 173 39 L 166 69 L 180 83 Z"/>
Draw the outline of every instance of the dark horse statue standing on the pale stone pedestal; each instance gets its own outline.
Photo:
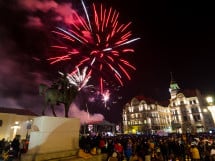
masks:
<path id="1" fill-rule="evenodd" d="M 77 87 L 70 84 L 67 84 L 66 87 L 57 85 L 49 87 L 45 84 L 40 84 L 39 94 L 45 97 L 45 107 L 42 109 L 42 115 L 45 115 L 45 110 L 50 106 L 53 115 L 57 116 L 54 106 L 62 103 L 65 109 L 65 117 L 68 117 L 70 105 L 76 98 L 77 93 Z"/>

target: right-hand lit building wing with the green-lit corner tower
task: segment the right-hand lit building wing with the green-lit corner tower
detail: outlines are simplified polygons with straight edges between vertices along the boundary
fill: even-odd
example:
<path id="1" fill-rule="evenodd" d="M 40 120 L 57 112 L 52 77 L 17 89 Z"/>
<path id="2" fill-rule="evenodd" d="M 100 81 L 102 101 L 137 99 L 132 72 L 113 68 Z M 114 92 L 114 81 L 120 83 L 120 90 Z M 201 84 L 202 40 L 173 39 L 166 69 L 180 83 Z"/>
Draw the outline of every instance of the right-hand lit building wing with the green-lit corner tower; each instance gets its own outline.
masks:
<path id="1" fill-rule="evenodd" d="M 178 84 L 172 79 L 169 92 L 173 132 L 200 133 L 208 132 L 214 127 L 212 113 L 199 90 L 180 91 Z"/>

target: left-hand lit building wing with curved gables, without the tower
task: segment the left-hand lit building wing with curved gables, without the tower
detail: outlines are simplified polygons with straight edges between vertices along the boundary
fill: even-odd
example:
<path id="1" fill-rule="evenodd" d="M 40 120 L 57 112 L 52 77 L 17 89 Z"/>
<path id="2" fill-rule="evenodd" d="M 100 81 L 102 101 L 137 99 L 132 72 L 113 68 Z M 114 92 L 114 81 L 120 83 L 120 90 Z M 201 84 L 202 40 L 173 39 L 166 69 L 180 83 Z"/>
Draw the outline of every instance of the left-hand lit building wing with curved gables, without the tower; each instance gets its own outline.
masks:
<path id="1" fill-rule="evenodd" d="M 134 97 L 123 109 L 124 133 L 152 134 L 169 130 L 171 113 L 168 107 L 143 97 Z"/>

